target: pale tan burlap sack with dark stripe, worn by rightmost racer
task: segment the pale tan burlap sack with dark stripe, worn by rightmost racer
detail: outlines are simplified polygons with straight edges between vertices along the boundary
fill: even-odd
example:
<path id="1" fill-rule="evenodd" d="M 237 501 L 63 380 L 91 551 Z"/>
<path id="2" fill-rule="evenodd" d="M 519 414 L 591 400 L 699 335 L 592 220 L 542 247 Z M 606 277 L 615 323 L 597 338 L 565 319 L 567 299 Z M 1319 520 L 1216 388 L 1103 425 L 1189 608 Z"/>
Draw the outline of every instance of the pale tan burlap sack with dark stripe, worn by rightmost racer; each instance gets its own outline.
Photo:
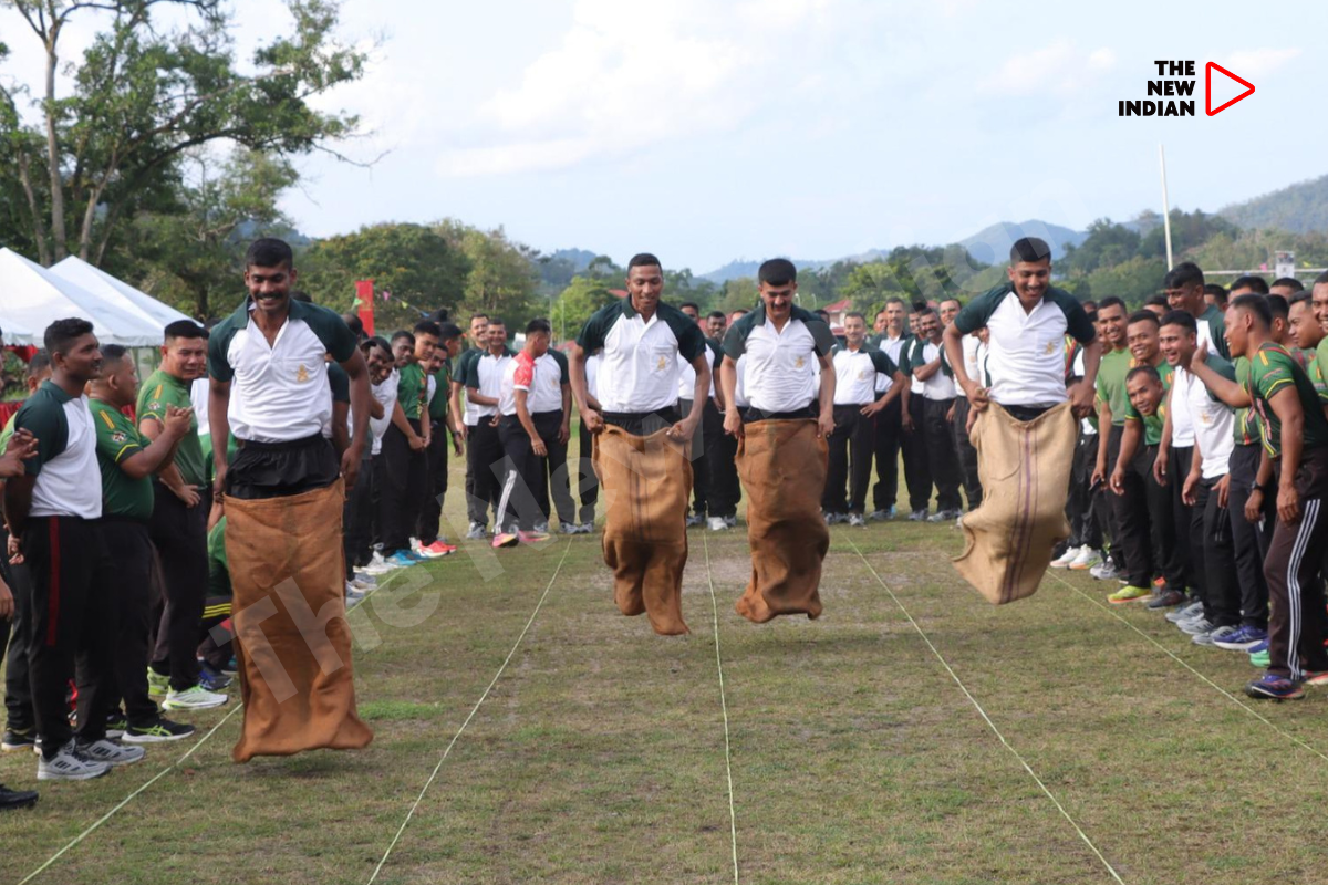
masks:
<path id="1" fill-rule="evenodd" d="M 1078 437 L 1068 402 L 1033 421 L 1016 421 L 992 403 L 977 415 L 983 506 L 963 519 L 967 545 L 955 569 L 993 605 L 1032 596 L 1069 537 L 1065 496 Z"/>

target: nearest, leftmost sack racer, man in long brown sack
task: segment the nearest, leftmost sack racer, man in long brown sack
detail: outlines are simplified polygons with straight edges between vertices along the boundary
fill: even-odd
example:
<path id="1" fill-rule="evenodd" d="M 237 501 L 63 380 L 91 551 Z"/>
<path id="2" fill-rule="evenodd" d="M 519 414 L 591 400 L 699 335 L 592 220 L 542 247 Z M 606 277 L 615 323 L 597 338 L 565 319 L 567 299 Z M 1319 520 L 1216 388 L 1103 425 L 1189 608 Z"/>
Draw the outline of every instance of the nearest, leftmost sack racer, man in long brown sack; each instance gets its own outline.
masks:
<path id="1" fill-rule="evenodd" d="M 212 438 L 240 448 L 216 458 L 234 592 L 235 657 L 244 730 L 235 762 L 373 739 L 355 710 L 341 561 L 343 482 L 353 484 L 369 415 L 369 378 L 355 336 L 332 310 L 291 300 L 291 248 L 256 240 L 250 296 L 208 348 Z M 323 427 L 332 419 L 331 353 L 351 378 L 355 427 L 340 470 Z"/>

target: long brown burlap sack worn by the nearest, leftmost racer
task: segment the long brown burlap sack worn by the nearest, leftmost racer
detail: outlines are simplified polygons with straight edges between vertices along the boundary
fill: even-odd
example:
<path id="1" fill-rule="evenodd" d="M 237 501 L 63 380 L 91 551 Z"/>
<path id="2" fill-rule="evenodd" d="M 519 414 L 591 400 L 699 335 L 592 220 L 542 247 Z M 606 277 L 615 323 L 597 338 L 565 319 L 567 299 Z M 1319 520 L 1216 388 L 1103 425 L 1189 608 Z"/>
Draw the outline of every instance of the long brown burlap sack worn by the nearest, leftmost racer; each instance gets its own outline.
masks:
<path id="1" fill-rule="evenodd" d="M 244 699 L 235 762 L 373 740 L 355 711 L 341 504 L 340 480 L 290 498 L 226 499 Z"/>

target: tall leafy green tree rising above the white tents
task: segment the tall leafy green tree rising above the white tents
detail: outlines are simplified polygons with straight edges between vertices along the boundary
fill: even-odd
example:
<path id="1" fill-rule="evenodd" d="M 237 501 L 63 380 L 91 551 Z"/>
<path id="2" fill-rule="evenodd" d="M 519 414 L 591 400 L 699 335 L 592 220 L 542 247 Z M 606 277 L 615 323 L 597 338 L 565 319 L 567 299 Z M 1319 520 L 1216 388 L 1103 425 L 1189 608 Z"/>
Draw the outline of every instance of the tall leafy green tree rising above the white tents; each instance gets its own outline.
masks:
<path id="1" fill-rule="evenodd" d="M 175 180 L 186 151 L 220 141 L 274 157 L 331 150 L 352 135 L 352 115 L 309 100 L 363 73 L 364 54 L 341 45 L 336 0 L 287 0 L 293 24 L 259 48 L 242 73 L 220 0 L 0 0 L 44 49 L 40 126 L 24 125 L 27 85 L 0 85 L 0 141 L 13 154 L 31 240 L 42 264 L 70 252 L 100 264 L 117 228 Z M 183 8 L 194 24 L 158 29 L 157 7 Z M 64 29 L 110 13 L 73 66 L 60 97 Z"/>

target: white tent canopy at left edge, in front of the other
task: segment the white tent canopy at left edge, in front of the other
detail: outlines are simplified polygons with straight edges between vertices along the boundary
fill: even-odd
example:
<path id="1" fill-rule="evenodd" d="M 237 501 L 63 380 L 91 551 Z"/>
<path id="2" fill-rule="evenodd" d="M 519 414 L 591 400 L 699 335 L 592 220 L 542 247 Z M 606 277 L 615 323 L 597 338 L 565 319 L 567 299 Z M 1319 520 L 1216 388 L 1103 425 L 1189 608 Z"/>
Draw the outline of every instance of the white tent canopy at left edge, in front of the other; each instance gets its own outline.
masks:
<path id="1" fill-rule="evenodd" d="M 41 346 L 46 326 L 65 317 L 90 320 L 102 344 L 153 348 L 162 342 L 157 322 L 110 304 L 12 249 L 0 249 L 0 329 L 5 342 Z"/>

